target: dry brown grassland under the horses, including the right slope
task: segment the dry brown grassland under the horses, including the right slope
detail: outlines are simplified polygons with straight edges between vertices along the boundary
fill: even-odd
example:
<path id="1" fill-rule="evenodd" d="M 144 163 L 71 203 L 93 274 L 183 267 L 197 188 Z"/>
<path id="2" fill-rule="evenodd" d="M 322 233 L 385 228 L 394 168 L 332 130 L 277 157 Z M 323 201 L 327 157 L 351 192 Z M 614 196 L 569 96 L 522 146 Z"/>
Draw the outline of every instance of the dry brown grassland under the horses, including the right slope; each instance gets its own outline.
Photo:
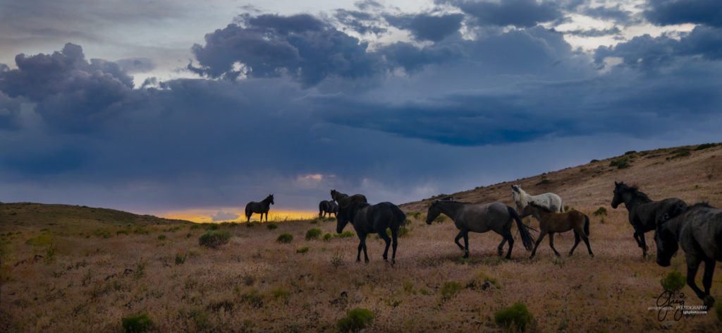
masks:
<path id="1" fill-rule="evenodd" d="M 334 221 L 271 229 L 116 215 L 83 220 L 42 205 L 0 204 L 0 332 L 123 332 L 121 319 L 142 313 L 153 332 L 338 332 L 336 322 L 357 307 L 375 315 L 364 332 L 504 332 L 494 315 L 514 303 L 534 316 L 531 332 L 722 332 L 715 313 L 675 321 L 670 312 L 658 320 L 649 308 L 664 291 L 659 281 L 674 270 L 686 274 L 684 256 L 680 251 L 671 267 L 659 267 L 648 233 L 651 257 L 643 259 L 624 205 L 609 206 L 614 181 L 625 181 L 651 199 L 722 207 L 722 145 L 696 149 L 630 152 L 453 194 L 512 204 L 513 183 L 529 194 L 553 191 L 590 216 L 594 258 L 583 245 L 565 255 L 571 233 L 555 238 L 561 257 L 544 240 L 532 260 L 521 241 L 506 260 L 496 254 L 499 235 L 471 233 L 471 258 L 461 259 L 452 222 L 425 224 L 429 200 L 401 205 L 421 216 L 409 214 L 393 267 L 381 259 L 383 242 L 375 236 L 367 241 L 368 264 L 355 261 L 355 236 L 324 241 L 323 234 L 335 233 Z M 615 164 L 627 167 L 610 166 L 620 158 Z M 599 207 L 607 214 L 593 216 Z M 217 248 L 201 246 L 206 228 L 232 237 Z M 321 238 L 305 239 L 311 228 L 323 230 Z M 277 242 L 282 233 L 293 240 Z M 711 290 L 718 301 L 721 266 Z M 685 305 L 702 304 L 689 287 L 682 292 Z"/>

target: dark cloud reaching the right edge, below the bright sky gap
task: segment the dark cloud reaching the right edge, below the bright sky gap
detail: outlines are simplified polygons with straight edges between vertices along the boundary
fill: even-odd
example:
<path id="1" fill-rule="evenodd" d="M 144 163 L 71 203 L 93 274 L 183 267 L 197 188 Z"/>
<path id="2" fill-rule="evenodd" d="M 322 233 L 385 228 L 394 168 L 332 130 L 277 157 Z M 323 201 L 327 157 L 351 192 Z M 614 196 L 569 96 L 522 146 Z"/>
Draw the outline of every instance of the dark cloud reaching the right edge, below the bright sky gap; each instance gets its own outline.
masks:
<path id="1" fill-rule="evenodd" d="M 656 71 L 677 64 L 679 57 L 684 56 L 701 56 L 702 59 L 715 61 L 722 59 L 722 29 L 697 26 L 679 40 L 666 35 L 656 38 L 642 35 L 617 46 L 597 48 L 594 61 L 601 66 L 607 57 L 619 57 L 625 66 Z"/>

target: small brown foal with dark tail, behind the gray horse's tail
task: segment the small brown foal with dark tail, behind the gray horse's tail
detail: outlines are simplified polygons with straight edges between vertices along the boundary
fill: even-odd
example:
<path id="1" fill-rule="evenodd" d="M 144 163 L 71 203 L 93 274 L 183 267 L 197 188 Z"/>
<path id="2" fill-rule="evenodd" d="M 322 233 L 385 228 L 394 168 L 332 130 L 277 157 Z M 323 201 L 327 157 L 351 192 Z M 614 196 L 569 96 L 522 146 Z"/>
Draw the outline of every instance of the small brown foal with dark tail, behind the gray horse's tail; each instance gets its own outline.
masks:
<path id="1" fill-rule="evenodd" d="M 554 233 L 565 233 L 569 230 L 574 230 L 574 246 L 569 251 L 571 256 L 574 253 L 574 249 L 579 245 L 580 238 L 584 241 L 589 250 L 589 255 L 594 257 L 589 246 L 589 217 L 584 215 L 582 212 L 576 210 L 570 210 L 567 212 L 552 212 L 547 207 L 543 207 L 534 202 L 529 202 L 529 205 L 524 209 L 525 214 L 531 214 L 539 220 L 539 238 L 536 239 L 534 244 L 534 250 L 531 250 L 531 256 L 529 259 L 534 258 L 536 254 L 536 248 L 539 248 L 541 239 L 544 238 L 547 233 L 549 234 L 549 247 L 554 250 L 554 254 L 559 256 L 559 252 L 554 248 Z"/>

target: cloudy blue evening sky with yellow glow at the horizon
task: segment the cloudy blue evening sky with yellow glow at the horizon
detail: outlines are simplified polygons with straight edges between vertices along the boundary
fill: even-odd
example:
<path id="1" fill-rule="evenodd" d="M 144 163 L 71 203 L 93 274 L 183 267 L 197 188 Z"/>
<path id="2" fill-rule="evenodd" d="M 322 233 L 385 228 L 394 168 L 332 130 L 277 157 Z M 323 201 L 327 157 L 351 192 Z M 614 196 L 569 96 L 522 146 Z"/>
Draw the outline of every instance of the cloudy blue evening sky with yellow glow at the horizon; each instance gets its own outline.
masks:
<path id="1" fill-rule="evenodd" d="M 0 0 L 0 202 L 402 204 L 721 142 L 720 105 L 718 0 Z"/>

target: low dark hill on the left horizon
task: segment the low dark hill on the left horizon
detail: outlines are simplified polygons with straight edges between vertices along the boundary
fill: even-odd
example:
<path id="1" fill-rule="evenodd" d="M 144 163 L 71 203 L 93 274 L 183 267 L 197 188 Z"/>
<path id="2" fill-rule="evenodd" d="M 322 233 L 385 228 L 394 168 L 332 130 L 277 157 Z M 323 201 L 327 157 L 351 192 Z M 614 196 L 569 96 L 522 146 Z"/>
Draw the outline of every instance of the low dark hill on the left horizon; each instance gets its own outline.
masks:
<path id="1" fill-rule="evenodd" d="M 152 215 L 136 215 L 115 209 L 71 206 L 68 204 L 0 203 L 0 233 L 22 228 L 48 228 L 48 225 L 103 227 L 108 225 L 162 225 L 192 223 Z"/>

